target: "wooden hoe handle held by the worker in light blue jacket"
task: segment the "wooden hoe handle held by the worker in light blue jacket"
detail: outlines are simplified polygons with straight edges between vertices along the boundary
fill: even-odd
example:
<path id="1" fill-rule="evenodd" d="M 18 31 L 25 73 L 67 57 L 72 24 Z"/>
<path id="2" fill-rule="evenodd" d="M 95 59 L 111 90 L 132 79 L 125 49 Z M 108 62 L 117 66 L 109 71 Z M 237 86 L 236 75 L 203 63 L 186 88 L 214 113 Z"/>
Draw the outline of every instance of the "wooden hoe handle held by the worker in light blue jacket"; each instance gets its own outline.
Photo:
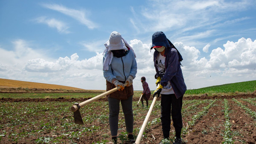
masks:
<path id="1" fill-rule="evenodd" d="M 128 85 L 128 83 L 125 83 L 125 84 L 124 84 L 124 86 L 127 86 L 127 85 Z M 80 106 L 80 108 L 81 108 L 81 107 L 84 107 L 85 105 L 90 104 L 90 103 L 92 103 L 93 101 L 96 101 L 96 100 L 98 100 L 98 99 L 100 99 L 100 98 L 102 98 L 102 97 L 104 97 L 104 96 L 106 96 L 106 95 L 109 95 L 109 94 L 111 94 L 112 92 L 117 91 L 118 89 L 121 89 L 121 87 L 120 87 L 120 86 L 117 86 L 117 87 L 115 87 L 115 88 L 113 88 L 113 89 L 111 89 L 111 90 L 109 90 L 109 91 L 107 91 L 107 92 L 104 92 L 104 93 L 102 93 L 102 94 L 100 94 L 100 95 L 97 95 L 97 96 L 95 96 L 95 97 L 93 97 L 93 98 L 90 98 L 90 99 L 88 99 L 88 100 L 86 100 L 86 101 L 84 101 L 84 102 L 81 102 L 81 103 L 79 103 L 79 106 Z M 71 107 L 71 111 L 72 111 L 72 112 L 76 112 L 77 109 L 78 109 L 77 105 L 73 105 L 73 106 Z"/>

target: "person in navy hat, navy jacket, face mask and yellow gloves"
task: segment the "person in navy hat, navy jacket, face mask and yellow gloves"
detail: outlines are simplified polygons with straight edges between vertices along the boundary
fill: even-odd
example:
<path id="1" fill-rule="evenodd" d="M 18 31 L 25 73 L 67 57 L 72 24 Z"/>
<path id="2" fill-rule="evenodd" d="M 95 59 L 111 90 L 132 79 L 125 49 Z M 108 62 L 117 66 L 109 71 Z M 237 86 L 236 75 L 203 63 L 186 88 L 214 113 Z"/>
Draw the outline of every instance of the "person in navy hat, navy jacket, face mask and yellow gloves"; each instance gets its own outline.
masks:
<path id="1" fill-rule="evenodd" d="M 159 97 L 161 94 L 163 138 L 169 139 L 172 114 L 176 137 L 173 144 L 180 144 L 182 142 L 180 136 L 182 129 L 182 98 L 186 92 L 186 84 L 180 68 L 180 61 L 183 58 L 163 32 L 155 32 L 152 35 L 151 49 L 155 50 L 154 66 L 156 69 L 155 78 L 157 79 L 157 88 L 153 97 Z"/>

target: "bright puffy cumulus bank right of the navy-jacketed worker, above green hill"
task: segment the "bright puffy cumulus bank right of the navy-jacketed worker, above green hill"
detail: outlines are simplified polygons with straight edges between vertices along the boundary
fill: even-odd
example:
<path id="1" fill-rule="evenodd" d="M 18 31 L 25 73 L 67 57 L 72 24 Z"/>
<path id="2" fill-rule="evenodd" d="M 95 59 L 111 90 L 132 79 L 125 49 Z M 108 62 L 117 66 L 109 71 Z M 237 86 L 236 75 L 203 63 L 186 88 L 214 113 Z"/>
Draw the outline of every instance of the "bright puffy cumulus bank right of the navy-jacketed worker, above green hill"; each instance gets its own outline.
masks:
<path id="1" fill-rule="evenodd" d="M 256 78 L 256 40 L 241 38 L 237 42 L 227 41 L 223 46 L 223 49 L 220 47 L 213 49 L 209 60 L 198 59 L 199 53 L 195 53 L 195 59 L 192 59 L 189 66 L 183 64 L 188 88 L 191 88 L 193 84 L 200 88 L 223 83 L 251 81 Z M 186 60 L 186 57 L 183 58 Z M 209 76 L 213 79 L 209 79 Z M 192 81 L 192 79 L 195 80 Z"/>

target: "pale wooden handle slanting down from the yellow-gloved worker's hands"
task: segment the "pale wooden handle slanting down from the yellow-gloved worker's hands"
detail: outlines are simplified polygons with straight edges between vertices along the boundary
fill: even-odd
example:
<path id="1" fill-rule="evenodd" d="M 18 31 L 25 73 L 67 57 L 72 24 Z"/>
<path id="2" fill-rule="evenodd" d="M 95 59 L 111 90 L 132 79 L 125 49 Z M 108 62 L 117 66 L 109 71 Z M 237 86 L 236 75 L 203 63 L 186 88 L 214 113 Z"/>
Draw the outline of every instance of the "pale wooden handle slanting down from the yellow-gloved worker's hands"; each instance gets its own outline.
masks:
<path id="1" fill-rule="evenodd" d="M 143 132 L 144 132 L 144 130 L 145 130 L 145 127 L 146 127 L 146 125 L 147 125 L 147 123 L 148 123 L 148 118 L 149 118 L 149 116 L 151 115 L 151 112 L 152 112 L 152 110 L 153 110 L 153 107 L 154 107 L 154 104 L 156 103 L 156 101 L 157 101 L 157 96 L 155 96 L 154 99 L 153 99 L 153 101 L 152 101 L 152 104 L 151 104 L 151 106 L 150 106 L 150 108 L 149 108 L 149 110 L 148 110 L 148 114 L 146 115 L 145 120 L 144 120 L 144 122 L 143 122 L 143 124 L 142 124 L 142 126 L 141 126 L 141 128 L 140 128 L 140 132 L 139 132 L 139 134 L 138 134 L 138 136 L 137 136 L 137 139 L 136 139 L 136 141 L 135 141 L 135 144 L 140 144 L 141 137 L 142 137 Z"/>

